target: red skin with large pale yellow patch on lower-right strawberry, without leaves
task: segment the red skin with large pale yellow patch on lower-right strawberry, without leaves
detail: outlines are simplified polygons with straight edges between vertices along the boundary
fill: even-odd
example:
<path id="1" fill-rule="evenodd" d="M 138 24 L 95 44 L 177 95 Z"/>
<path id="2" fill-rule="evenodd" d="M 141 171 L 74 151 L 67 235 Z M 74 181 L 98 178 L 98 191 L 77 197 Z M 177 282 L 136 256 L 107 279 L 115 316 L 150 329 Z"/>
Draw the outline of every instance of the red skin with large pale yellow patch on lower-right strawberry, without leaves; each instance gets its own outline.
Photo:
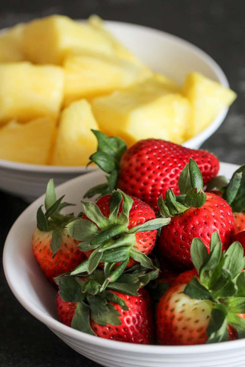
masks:
<path id="1" fill-rule="evenodd" d="M 180 274 L 188 280 L 191 272 Z M 177 278 L 176 278 L 177 281 Z M 187 283 L 173 284 L 161 297 L 156 308 L 156 333 L 161 345 L 205 344 L 208 340 L 206 329 L 209 323 L 211 307 L 206 301 L 191 299 L 184 295 Z M 244 314 L 237 316 L 245 318 Z M 237 331 L 227 325 L 229 340 L 238 339 Z"/>

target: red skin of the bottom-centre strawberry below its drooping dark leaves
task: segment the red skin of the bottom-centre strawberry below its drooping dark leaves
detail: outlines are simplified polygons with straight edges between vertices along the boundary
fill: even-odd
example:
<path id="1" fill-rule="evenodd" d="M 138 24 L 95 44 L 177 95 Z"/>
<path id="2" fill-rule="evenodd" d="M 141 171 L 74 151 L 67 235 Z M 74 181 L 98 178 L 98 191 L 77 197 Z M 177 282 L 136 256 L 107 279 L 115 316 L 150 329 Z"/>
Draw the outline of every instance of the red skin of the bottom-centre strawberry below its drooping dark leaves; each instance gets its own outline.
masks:
<path id="1" fill-rule="evenodd" d="M 101 338 L 137 343 L 154 344 L 155 342 L 155 324 L 154 313 L 151 298 L 145 289 L 140 289 L 140 296 L 131 296 L 117 291 L 109 290 L 118 297 L 126 301 L 129 310 L 124 311 L 119 305 L 110 302 L 120 312 L 119 319 L 122 324 L 113 326 L 101 326 L 90 321 L 94 333 Z M 76 302 L 64 302 L 59 293 L 57 294 L 56 306 L 58 315 L 67 326 L 71 326 L 72 317 L 75 313 Z"/>

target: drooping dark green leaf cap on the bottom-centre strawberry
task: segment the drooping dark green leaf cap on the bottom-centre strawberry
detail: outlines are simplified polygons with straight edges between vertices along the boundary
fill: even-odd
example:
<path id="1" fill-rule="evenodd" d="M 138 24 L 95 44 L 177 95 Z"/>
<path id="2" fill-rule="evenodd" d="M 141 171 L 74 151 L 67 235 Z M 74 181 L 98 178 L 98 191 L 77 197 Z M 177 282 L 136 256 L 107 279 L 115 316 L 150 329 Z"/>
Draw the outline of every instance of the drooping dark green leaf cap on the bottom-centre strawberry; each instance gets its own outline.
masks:
<path id="1" fill-rule="evenodd" d="M 123 273 L 118 281 L 109 283 L 103 287 L 105 273 L 103 270 L 95 270 L 94 273 L 84 273 L 83 276 L 65 274 L 54 280 L 59 286 L 60 297 L 65 302 L 77 302 L 71 327 L 95 335 L 90 326 L 90 320 L 100 325 L 120 325 L 120 312 L 109 303 L 118 304 L 122 310 L 128 310 L 126 302 L 111 290 L 123 294 L 137 296 L 137 291 L 144 287 L 151 279 L 158 277 L 158 272 L 148 272 L 140 265 L 134 266 L 131 273 L 128 270 Z"/>

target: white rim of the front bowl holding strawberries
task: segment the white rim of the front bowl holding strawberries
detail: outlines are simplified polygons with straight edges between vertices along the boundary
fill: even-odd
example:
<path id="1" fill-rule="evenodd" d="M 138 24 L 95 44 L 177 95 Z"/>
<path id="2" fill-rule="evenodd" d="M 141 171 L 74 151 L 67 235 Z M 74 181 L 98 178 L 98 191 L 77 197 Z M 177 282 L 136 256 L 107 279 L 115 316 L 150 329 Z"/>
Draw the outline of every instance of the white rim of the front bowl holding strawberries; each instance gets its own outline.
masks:
<path id="1" fill-rule="evenodd" d="M 227 164 L 228 167 L 232 167 L 234 168 L 234 171 L 239 167 L 236 164 L 231 164 L 231 163 L 222 163 L 220 162 L 221 165 L 222 164 Z M 59 189 L 62 190 L 62 188 L 66 185 L 69 185 L 71 182 L 74 184 L 79 184 L 81 183 L 80 180 L 82 180 L 83 178 L 91 178 L 93 179 L 94 176 L 98 175 L 99 171 L 94 171 L 94 172 L 90 172 L 88 174 L 84 175 L 80 175 L 78 177 L 75 177 L 73 179 L 70 179 L 64 183 L 62 183 L 61 185 L 56 186 L 55 189 Z M 102 172 L 101 172 L 102 173 Z M 22 213 L 21 215 L 19 215 L 19 217 L 16 219 L 16 221 L 14 222 L 14 224 L 11 226 L 11 229 L 7 235 L 5 244 L 4 244 L 4 249 L 3 249 L 3 268 L 4 268 L 4 274 L 8 283 L 8 286 L 10 287 L 12 293 L 14 294 L 15 298 L 18 299 L 18 301 L 21 303 L 22 306 L 24 306 L 24 308 L 26 310 L 28 310 L 28 312 L 35 316 L 36 319 L 38 319 L 39 321 L 41 321 L 42 323 L 46 324 L 46 326 L 48 328 L 51 328 L 54 332 L 57 331 L 57 333 L 61 333 L 64 334 L 68 337 L 71 338 L 75 338 L 77 340 L 83 341 L 87 344 L 91 344 L 94 346 L 99 346 L 102 348 L 109 348 L 109 349 L 117 349 L 117 350 L 122 350 L 122 351 L 129 351 L 129 352 L 135 352 L 135 353 L 143 353 L 143 354 L 148 354 L 148 353 L 154 353 L 155 355 L 163 355 L 163 354 L 197 354 L 197 353 L 201 353 L 201 352 L 221 352 L 223 350 L 229 350 L 229 349 L 238 349 L 241 348 L 242 346 L 245 346 L 245 338 L 244 339 L 238 339 L 238 340 L 233 340 L 233 341 L 227 341 L 227 342 L 221 342 L 221 343 L 213 343 L 213 344 L 200 344 L 200 345 L 180 345 L 180 346 L 165 346 L 165 345 L 142 345 L 142 344 L 131 344 L 131 343 L 127 343 L 127 342 L 119 342 L 119 341 L 114 341 L 114 340 L 109 340 L 109 339 L 104 339 L 104 338 L 99 338 L 93 335 L 89 335 L 86 334 L 82 331 L 79 330 L 75 330 L 69 326 L 66 326 L 64 324 L 62 324 L 60 321 L 54 319 L 52 316 L 47 315 L 47 313 L 45 313 L 44 311 L 40 310 L 40 308 L 38 306 L 35 306 L 33 304 L 28 304 L 28 302 L 25 300 L 25 298 L 22 297 L 21 292 L 18 292 L 18 288 L 14 286 L 14 283 L 12 283 L 11 281 L 11 276 L 10 276 L 10 269 L 9 266 L 7 265 L 7 247 L 8 247 L 8 242 L 10 241 L 10 238 L 12 236 L 12 229 L 14 226 L 18 226 L 19 222 L 22 222 L 22 218 L 24 218 L 25 216 L 28 216 L 30 212 L 32 212 L 35 208 L 35 212 L 36 212 L 36 207 L 38 206 L 38 204 L 40 204 L 39 202 L 43 202 L 45 197 L 45 194 L 40 196 L 38 199 L 36 199 L 32 204 L 30 204 Z"/>

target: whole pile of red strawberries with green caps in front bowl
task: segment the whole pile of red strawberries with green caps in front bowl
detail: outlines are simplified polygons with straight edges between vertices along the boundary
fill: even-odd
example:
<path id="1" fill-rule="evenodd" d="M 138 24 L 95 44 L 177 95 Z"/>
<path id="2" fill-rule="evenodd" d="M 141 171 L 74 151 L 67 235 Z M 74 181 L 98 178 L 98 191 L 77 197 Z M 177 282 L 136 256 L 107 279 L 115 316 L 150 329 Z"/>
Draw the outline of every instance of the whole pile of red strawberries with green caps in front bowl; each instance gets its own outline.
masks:
<path id="1" fill-rule="evenodd" d="M 62 323 L 141 344 L 244 338 L 245 166 L 228 183 L 204 150 L 93 132 L 99 199 L 63 215 L 50 180 L 32 236 Z"/>

